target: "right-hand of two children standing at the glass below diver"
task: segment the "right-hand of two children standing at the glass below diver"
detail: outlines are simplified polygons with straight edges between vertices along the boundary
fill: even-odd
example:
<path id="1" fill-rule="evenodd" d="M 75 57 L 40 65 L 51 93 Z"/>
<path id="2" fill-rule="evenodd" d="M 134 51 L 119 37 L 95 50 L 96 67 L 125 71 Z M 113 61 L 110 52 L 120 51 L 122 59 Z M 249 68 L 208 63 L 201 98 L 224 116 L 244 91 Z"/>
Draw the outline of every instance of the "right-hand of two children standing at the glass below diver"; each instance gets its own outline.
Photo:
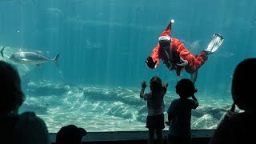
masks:
<path id="1" fill-rule="evenodd" d="M 197 89 L 190 79 L 183 78 L 177 83 L 176 93 L 180 98 L 174 99 L 167 110 L 168 122 L 166 124 L 170 125 L 167 138 L 168 143 L 191 143 L 191 110 L 198 107 L 198 100 L 194 96 L 196 92 Z"/>

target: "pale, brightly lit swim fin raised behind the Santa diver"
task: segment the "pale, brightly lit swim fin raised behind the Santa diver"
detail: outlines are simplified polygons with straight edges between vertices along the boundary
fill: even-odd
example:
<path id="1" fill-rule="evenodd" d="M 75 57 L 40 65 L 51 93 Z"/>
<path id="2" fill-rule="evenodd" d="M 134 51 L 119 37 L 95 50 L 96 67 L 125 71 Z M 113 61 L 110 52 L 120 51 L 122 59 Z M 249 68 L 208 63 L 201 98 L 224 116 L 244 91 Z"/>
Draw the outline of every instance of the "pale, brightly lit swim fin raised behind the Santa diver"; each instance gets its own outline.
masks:
<path id="1" fill-rule="evenodd" d="M 222 45 L 223 41 L 224 38 L 221 36 L 221 34 L 214 34 L 205 51 L 207 51 L 208 54 L 213 54 L 216 50 L 218 50 L 218 47 Z"/>

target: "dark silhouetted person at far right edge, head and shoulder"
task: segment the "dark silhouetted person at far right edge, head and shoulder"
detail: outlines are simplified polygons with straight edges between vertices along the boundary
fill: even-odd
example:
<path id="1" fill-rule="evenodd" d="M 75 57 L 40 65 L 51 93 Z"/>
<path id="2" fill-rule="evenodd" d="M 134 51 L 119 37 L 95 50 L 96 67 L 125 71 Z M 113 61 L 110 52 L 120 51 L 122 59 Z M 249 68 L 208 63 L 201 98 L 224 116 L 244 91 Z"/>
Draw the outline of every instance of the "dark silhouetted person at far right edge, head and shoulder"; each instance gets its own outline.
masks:
<path id="1" fill-rule="evenodd" d="M 234 104 L 214 131 L 211 144 L 256 143 L 255 66 L 256 58 L 244 59 L 236 66 L 231 85 Z M 234 112 L 235 105 L 244 112 Z"/>

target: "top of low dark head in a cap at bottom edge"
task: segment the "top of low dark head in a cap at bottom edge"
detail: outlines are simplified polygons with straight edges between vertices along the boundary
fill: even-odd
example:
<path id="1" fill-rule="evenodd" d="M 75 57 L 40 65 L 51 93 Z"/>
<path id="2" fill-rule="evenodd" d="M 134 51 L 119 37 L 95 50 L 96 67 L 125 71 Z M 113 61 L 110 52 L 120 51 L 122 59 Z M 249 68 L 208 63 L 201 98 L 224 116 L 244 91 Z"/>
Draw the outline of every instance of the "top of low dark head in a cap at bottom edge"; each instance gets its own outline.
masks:
<path id="1" fill-rule="evenodd" d="M 83 128 L 74 125 L 63 126 L 56 135 L 57 144 L 79 144 L 87 132 Z"/>

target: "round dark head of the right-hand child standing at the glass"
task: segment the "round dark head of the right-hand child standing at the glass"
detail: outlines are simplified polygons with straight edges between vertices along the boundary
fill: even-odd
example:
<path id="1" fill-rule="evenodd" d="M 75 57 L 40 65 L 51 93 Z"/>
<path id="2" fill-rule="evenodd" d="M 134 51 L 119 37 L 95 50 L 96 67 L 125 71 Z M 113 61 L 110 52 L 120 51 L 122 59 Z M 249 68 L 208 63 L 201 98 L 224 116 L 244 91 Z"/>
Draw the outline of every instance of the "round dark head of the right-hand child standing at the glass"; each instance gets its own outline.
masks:
<path id="1" fill-rule="evenodd" d="M 190 98 L 196 91 L 194 83 L 190 79 L 183 78 L 177 82 L 176 93 L 181 98 Z"/>

